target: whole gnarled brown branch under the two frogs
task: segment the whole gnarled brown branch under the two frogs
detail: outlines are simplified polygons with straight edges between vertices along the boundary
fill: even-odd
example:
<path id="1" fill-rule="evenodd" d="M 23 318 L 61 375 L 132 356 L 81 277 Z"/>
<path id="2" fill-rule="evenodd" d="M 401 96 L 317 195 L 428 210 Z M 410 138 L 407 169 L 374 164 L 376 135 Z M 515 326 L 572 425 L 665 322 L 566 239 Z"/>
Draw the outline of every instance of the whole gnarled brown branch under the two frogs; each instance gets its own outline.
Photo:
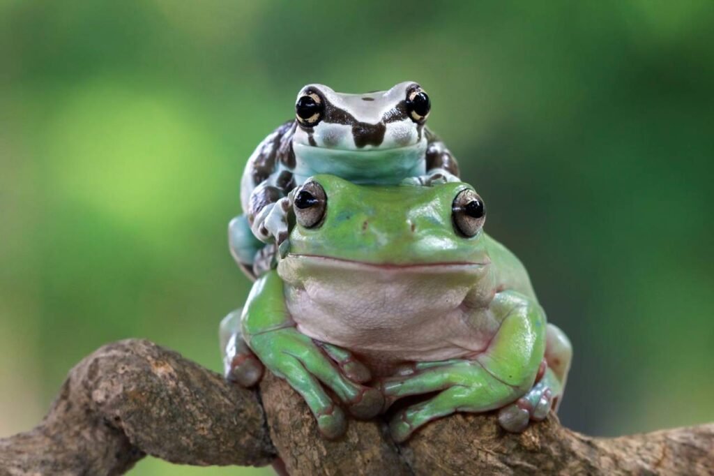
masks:
<path id="1" fill-rule="evenodd" d="M 377 421 L 327 441 L 285 382 L 268 375 L 259 390 L 151 342 L 110 344 L 71 371 L 38 427 L 0 440 L 0 475 L 120 475 L 147 454 L 188 465 L 280 455 L 291 475 L 714 475 L 714 424 L 593 438 L 552 415 L 522 435 L 493 415 L 453 415 L 404 445 Z"/>

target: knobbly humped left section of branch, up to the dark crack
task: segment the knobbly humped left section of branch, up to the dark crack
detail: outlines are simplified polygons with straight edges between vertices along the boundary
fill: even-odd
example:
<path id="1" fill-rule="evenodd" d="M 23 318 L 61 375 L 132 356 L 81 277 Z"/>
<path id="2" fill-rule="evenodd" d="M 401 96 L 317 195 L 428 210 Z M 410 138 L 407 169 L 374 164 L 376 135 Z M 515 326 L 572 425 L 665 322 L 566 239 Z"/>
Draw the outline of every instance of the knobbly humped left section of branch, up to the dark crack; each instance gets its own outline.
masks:
<path id="1" fill-rule="evenodd" d="M 265 465 L 254 392 L 146 340 L 101 347 L 69 374 L 41 424 L 0 440 L 0 475 L 121 475 L 144 455 Z"/>

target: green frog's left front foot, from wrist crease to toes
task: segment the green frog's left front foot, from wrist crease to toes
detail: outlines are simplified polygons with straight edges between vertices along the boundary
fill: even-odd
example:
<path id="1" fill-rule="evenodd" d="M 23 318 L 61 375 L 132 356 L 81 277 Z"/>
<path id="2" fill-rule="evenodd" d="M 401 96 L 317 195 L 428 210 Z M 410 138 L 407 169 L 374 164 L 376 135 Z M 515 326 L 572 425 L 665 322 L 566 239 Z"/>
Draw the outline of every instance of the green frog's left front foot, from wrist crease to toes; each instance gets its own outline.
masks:
<path id="1" fill-rule="evenodd" d="M 251 347 L 271 372 L 302 395 L 325 437 L 341 436 L 346 430 L 346 418 L 323 385 L 354 417 L 369 419 L 382 410 L 381 392 L 358 383 L 369 377 L 366 367 L 343 349 L 318 345 L 293 327 L 256 334 L 251 337 Z"/>

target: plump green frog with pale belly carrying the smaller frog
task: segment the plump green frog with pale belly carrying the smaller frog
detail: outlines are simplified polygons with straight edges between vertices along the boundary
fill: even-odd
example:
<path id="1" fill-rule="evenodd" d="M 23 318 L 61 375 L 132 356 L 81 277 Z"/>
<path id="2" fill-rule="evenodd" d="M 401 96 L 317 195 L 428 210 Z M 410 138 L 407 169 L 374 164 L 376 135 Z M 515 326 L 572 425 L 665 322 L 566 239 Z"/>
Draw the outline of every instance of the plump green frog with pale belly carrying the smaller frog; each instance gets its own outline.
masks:
<path id="1" fill-rule="evenodd" d="M 347 414 L 391 415 L 403 442 L 454 412 L 496 410 L 521 432 L 557 410 L 572 346 L 523 264 L 483 232 L 471 185 L 317 174 L 290 197 L 288 252 L 221 323 L 229 380 L 286 380 L 328 438 Z"/>

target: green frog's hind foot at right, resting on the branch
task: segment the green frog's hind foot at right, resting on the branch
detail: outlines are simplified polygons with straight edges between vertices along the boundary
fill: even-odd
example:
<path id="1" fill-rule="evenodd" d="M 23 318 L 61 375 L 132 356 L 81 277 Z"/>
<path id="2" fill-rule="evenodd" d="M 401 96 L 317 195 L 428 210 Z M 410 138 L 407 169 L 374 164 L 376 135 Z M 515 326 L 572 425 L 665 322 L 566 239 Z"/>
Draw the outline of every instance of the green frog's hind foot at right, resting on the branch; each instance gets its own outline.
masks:
<path id="1" fill-rule="evenodd" d="M 544 372 L 539 372 L 533 388 L 519 398 L 515 403 L 503 407 L 498 412 L 498 422 L 508 432 L 522 432 L 528 427 L 528 422 L 545 420 L 552 408 L 558 411 L 558 404 L 563 400 L 565 380 L 573 357 L 573 347 L 565 333 L 548 324 L 545 331 L 545 366 Z"/>

